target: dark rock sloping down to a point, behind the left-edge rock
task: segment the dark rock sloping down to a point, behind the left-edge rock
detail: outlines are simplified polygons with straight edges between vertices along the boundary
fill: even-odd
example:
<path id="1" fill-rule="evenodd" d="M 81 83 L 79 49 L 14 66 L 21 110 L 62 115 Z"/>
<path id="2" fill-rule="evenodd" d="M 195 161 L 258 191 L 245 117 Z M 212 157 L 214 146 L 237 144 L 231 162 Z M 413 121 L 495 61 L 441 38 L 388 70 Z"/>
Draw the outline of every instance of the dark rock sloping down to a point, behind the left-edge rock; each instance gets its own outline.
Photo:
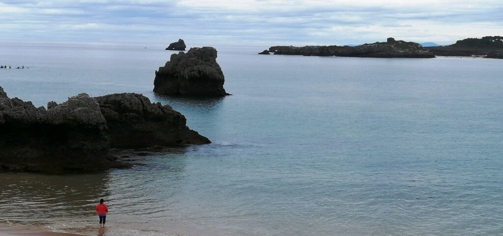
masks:
<path id="1" fill-rule="evenodd" d="M 168 105 L 151 103 L 140 94 L 97 97 L 114 148 L 149 148 L 205 144 L 210 140 L 187 127 L 187 120 Z"/>

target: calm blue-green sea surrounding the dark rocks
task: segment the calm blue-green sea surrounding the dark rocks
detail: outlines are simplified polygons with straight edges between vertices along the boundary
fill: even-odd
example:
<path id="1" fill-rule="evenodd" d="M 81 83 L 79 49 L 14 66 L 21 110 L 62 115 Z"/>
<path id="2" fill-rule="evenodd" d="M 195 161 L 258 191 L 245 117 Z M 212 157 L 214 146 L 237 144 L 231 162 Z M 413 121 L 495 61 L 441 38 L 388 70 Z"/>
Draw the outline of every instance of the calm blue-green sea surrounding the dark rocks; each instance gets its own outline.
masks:
<path id="1" fill-rule="evenodd" d="M 141 93 L 213 141 L 129 170 L 0 174 L 2 227 L 97 235 L 104 198 L 107 236 L 503 234 L 503 60 L 216 48 L 233 96 L 193 100 L 151 92 L 162 47 L 1 46 L 30 67 L 0 69 L 10 97 Z"/>

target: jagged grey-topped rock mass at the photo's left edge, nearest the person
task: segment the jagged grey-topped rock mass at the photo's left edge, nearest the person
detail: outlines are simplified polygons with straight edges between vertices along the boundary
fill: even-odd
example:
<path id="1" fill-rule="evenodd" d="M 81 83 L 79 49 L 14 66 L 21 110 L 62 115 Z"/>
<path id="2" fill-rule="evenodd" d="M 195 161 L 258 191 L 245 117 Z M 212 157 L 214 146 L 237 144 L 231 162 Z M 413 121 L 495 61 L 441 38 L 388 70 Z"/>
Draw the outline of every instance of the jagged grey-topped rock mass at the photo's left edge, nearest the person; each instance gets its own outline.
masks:
<path id="1" fill-rule="evenodd" d="M 79 94 L 48 107 L 9 99 L 0 87 L 0 169 L 61 173 L 124 166 L 108 155 L 96 99 Z"/>

